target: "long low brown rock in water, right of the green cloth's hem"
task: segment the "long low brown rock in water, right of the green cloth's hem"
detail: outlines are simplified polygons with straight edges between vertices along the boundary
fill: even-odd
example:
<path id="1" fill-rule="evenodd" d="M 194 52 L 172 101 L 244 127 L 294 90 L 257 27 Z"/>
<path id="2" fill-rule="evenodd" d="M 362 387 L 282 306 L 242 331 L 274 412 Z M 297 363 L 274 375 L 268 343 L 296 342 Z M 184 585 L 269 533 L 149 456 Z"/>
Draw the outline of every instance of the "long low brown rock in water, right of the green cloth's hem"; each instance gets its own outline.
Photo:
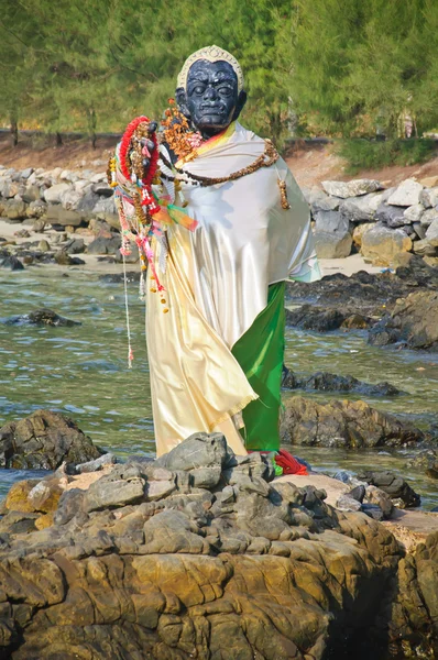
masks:
<path id="1" fill-rule="evenodd" d="M 419 442 L 424 433 L 365 402 L 321 404 L 294 396 L 285 402 L 281 438 L 287 444 L 316 447 L 401 447 Z"/>

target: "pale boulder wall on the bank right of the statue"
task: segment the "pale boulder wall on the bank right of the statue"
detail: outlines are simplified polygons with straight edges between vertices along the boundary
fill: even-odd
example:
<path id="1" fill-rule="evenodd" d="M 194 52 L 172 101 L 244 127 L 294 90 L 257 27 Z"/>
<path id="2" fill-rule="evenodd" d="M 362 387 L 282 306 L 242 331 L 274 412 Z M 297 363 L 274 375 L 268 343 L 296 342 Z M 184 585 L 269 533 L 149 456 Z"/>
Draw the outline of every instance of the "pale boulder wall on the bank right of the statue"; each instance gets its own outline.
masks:
<path id="1" fill-rule="evenodd" d="M 373 179 L 322 188 L 305 190 L 321 258 L 348 256 L 353 246 L 377 266 L 407 265 L 410 253 L 438 264 L 438 176 L 387 189 Z"/>

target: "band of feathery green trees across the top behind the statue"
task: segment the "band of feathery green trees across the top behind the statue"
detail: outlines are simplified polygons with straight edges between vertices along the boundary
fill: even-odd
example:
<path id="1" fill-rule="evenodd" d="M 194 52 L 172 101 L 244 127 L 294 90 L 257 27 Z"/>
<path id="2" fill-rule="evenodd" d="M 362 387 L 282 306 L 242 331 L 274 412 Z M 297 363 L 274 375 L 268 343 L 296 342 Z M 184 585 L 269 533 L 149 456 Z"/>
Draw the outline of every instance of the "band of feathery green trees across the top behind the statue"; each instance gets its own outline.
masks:
<path id="1" fill-rule="evenodd" d="M 184 59 L 216 43 L 241 62 L 245 125 L 277 143 L 438 127 L 436 0 L 3 0 L 0 122 L 121 131 L 160 118 Z"/>

